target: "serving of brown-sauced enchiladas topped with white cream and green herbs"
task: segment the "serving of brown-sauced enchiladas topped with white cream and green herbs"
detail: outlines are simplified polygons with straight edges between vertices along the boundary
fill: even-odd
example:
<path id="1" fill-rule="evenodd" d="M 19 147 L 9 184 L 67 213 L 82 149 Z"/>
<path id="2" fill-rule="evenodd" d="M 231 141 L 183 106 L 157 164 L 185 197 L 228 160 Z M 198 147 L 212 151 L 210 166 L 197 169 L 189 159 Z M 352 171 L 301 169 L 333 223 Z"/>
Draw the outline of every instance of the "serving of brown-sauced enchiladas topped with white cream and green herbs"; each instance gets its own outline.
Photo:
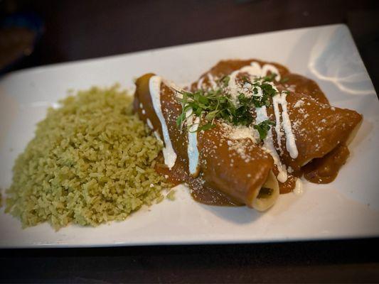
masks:
<path id="1" fill-rule="evenodd" d="M 331 107 L 316 82 L 260 60 L 225 60 L 188 89 L 154 74 L 134 111 L 164 143 L 156 170 L 198 202 L 264 211 L 301 177 L 331 182 L 362 116 Z"/>

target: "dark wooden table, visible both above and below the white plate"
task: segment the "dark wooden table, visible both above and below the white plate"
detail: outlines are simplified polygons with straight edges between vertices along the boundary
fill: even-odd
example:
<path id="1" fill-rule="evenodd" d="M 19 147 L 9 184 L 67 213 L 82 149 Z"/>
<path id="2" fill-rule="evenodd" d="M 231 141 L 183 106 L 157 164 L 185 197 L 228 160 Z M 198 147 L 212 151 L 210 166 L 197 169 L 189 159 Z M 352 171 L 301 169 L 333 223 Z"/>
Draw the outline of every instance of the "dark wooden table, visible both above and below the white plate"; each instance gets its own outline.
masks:
<path id="1" fill-rule="evenodd" d="M 346 23 L 378 90 L 378 2 L 20 0 L 0 1 L 0 5 L 7 11 L 35 11 L 45 21 L 43 38 L 18 69 L 235 35 Z M 379 239 L 361 239 L 1 250 L 0 282 L 378 283 L 378 245 Z"/>

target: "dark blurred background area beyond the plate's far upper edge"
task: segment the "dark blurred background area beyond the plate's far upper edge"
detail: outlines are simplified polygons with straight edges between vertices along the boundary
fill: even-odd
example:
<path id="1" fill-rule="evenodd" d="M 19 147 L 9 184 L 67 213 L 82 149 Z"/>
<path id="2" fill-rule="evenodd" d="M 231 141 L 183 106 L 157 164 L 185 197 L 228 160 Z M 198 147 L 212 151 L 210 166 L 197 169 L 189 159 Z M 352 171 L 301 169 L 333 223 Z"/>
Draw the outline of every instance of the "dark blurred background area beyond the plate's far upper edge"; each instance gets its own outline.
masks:
<path id="1" fill-rule="evenodd" d="M 42 32 L 9 70 L 288 28 L 346 23 L 379 87 L 375 0 L 0 0 L 2 18 L 33 13 Z"/>

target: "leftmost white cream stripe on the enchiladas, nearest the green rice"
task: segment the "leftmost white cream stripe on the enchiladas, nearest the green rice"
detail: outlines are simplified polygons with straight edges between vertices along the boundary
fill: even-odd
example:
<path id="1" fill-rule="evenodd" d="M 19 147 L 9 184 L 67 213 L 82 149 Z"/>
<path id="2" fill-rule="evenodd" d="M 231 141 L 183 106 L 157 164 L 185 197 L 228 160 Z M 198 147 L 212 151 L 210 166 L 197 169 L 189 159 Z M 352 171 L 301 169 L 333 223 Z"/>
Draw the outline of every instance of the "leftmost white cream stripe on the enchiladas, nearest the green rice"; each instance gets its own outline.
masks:
<path id="1" fill-rule="evenodd" d="M 167 128 L 166 120 L 164 119 L 161 107 L 161 82 L 162 78 L 159 76 L 152 76 L 149 80 L 149 91 L 151 101 L 153 102 L 154 111 L 161 122 L 162 133 L 164 138 L 164 163 L 171 169 L 175 165 L 176 153 L 172 147 L 169 129 Z"/>

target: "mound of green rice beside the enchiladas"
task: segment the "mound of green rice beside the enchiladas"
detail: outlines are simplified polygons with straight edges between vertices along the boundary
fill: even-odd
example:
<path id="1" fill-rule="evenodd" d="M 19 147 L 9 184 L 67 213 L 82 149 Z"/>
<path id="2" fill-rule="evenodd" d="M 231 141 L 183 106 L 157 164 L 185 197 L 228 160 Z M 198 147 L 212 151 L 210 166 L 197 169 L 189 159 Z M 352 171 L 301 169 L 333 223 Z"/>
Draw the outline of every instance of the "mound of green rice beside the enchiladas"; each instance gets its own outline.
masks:
<path id="1" fill-rule="evenodd" d="M 23 227 L 123 220 L 169 187 L 154 171 L 162 144 L 117 86 L 92 87 L 48 109 L 16 159 L 6 212 Z"/>

